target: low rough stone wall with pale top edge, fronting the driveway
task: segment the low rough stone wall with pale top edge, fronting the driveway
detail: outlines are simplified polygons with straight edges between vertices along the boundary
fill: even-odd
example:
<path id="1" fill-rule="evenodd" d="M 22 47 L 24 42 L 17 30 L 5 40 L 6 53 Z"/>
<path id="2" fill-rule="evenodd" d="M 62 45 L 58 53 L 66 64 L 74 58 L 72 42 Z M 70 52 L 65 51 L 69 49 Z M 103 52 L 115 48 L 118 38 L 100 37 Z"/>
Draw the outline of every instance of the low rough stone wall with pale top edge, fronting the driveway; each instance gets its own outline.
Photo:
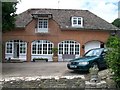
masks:
<path id="1" fill-rule="evenodd" d="M 4 80 L 3 88 L 84 88 L 85 82 L 77 78 L 37 78 Z"/>

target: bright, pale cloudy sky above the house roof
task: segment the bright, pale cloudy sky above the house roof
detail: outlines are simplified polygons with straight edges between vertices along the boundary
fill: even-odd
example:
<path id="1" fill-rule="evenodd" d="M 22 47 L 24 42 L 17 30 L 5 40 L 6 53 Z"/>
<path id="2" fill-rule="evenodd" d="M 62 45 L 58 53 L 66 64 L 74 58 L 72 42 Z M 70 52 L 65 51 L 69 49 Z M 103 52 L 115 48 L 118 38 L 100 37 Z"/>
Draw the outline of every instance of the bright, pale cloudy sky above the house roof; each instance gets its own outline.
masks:
<path id="1" fill-rule="evenodd" d="M 111 23 L 118 18 L 120 0 L 20 0 L 17 14 L 30 8 L 81 9 L 89 10 Z"/>

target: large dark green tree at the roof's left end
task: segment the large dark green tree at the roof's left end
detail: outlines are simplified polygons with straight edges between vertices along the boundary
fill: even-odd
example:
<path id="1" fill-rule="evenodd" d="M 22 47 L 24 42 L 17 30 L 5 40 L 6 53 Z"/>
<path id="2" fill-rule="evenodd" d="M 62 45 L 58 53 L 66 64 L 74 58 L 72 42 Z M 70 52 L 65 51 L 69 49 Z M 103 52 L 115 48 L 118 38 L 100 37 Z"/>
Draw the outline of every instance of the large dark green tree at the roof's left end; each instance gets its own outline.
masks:
<path id="1" fill-rule="evenodd" d="M 12 30 L 15 27 L 15 12 L 18 2 L 2 2 L 2 31 Z"/>

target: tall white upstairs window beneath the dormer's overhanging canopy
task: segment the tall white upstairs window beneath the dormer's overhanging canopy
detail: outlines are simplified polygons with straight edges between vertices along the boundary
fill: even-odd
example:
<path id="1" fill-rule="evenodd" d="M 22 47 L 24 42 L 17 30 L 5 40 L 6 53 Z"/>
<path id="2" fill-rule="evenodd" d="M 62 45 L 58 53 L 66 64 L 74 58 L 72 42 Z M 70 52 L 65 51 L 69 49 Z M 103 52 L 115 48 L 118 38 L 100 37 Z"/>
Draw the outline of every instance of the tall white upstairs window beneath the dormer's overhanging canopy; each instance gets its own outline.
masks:
<path id="1" fill-rule="evenodd" d="M 45 22 L 47 25 L 45 25 Z M 38 18 L 36 33 L 48 33 L 48 18 Z"/>

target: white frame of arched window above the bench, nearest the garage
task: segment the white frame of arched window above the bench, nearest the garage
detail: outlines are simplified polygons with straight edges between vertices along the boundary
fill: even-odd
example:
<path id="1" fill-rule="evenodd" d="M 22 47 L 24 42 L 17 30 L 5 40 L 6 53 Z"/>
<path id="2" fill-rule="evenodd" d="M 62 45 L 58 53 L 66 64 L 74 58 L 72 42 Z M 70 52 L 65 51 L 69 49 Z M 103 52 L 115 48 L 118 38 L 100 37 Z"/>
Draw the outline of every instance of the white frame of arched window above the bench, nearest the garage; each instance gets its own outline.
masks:
<path id="1" fill-rule="evenodd" d="M 66 42 L 69 42 L 69 43 L 66 43 Z M 74 42 L 74 43 L 70 43 L 70 42 Z M 60 44 L 62 44 L 63 45 L 63 47 L 62 47 L 62 54 L 65 54 L 65 45 L 68 45 L 68 54 L 70 54 L 70 45 L 73 45 L 74 47 L 73 47 L 73 49 L 74 49 L 74 51 L 73 51 L 73 54 L 74 55 L 80 55 L 80 43 L 78 43 L 78 42 L 76 42 L 76 41 L 74 41 L 74 40 L 65 40 L 65 41 L 62 41 L 62 42 L 60 42 L 60 43 L 58 43 L 58 55 L 61 55 L 61 53 L 59 52 L 59 45 Z M 78 51 L 78 54 L 76 54 L 76 47 L 75 47 L 75 45 L 78 45 L 79 46 L 79 51 Z"/>

